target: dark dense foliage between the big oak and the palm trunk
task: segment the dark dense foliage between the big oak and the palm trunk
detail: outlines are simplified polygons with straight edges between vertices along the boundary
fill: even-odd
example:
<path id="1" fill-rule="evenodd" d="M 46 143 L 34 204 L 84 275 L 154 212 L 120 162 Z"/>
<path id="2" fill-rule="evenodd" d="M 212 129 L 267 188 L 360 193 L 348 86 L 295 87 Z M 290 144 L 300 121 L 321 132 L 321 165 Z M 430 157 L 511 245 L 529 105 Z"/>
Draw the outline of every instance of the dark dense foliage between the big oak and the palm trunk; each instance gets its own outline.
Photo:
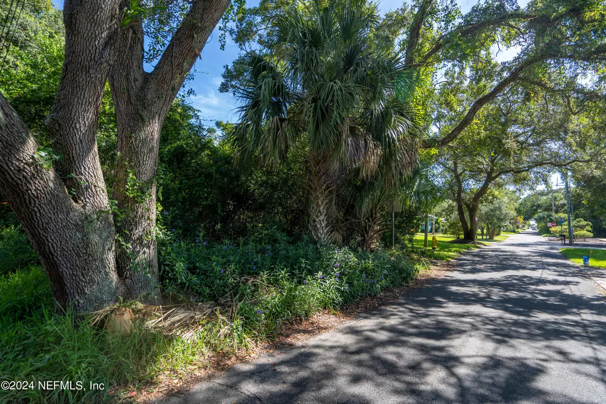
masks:
<path id="1" fill-rule="evenodd" d="M 280 222 L 291 234 L 305 227 L 305 173 L 296 156 L 279 167 L 237 170 L 235 155 L 197 111 L 176 101 L 161 132 L 160 220 L 193 237 L 246 236 L 265 222 Z M 160 192 L 161 191 L 161 192 Z"/>

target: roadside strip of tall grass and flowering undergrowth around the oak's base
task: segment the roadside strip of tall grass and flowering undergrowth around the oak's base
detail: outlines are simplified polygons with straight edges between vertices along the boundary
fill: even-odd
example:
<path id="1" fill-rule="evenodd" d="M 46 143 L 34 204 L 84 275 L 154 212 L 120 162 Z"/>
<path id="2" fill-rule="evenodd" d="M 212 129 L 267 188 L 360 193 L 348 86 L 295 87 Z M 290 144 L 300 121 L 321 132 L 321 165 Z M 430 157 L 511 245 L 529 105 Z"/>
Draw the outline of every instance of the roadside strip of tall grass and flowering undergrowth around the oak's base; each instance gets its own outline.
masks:
<path id="1" fill-rule="evenodd" d="M 176 233 L 176 232 L 175 232 Z M 162 286 L 191 300 L 216 302 L 222 316 L 205 320 L 193 337 L 167 336 L 139 325 L 116 337 L 89 316 L 55 314 L 39 267 L 0 277 L 0 379 L 35 382 L 2 391 L 2 402 L 102 402 L 108 390 L 179 374 L 211 353 L 235 353 L 267 339 L 285 319 L 378 294 L 409 282 L 419 269 L 402 254 L 290 243 L 271 231 L 247 240 L 204 244 L 159 239 Z M 85 390 L 37 388 L 38 381 L 82 382 Z M 103 390 L 88 389 L 102 383 Z"/>

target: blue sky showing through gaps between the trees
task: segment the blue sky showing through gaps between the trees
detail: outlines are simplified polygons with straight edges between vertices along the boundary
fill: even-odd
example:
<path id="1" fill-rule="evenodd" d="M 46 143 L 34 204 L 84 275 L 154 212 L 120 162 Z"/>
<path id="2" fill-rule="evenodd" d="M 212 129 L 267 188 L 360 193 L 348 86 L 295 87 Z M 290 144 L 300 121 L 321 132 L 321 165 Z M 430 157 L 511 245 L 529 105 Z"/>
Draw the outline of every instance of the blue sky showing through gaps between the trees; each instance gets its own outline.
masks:
<path id="1" fill-rule="evenodd" d="M 64 0 L 53 0 L 59 8 L 63 8 Z M 519 3 L 525 5 L 528 0 L 521 0 Z M 462 12 L 467 12 L 476 0 L 458 0 L 458 4 Z M 400 7 L 403 0 L 384 0 L 379 2 L 379 9 L 382 13 L 389 10 L 395 10 Z M 248 5 L 258 4 L 258 0 L 248 2 Z M 230 121 L 238 120 L 238 114 L 235 113 L 235 108 L 238 107 L 236 100 L 231 94 L 219 93 L 219 84 L 221 84 L 221 73 L 223 73 L 224 65 L 238 57 L 239 49 L 227 38 L 225 50 L 221 50 L 219 46 L 219 31 L 217 28 L 213 31 L 209 42 L 202 50 L 201 58 L 198 59 L 193 67 L 195 78 L 187 83 L 188 87 L 193 88 L 196 95 L 190 98 L 191 104 L 200 111 L 201 118 L 207 121 L 209 125 L 215 121 Z M 516 53 L 514 50 L 505 51 L 499 59 L 507 59 Z"/>

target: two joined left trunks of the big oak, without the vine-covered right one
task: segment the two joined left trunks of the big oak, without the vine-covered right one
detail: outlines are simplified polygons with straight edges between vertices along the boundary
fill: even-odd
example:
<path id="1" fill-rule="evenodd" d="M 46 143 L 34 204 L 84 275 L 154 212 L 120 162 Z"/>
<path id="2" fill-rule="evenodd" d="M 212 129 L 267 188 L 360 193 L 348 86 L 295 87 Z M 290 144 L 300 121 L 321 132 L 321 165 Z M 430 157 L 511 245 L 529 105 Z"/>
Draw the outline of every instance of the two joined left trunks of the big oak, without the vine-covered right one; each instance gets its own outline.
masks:
<path id="1" fill-rule="evenodd" d="M 116 300 L 115 231 L 96 147 L 99 105 L 116 49 L 118 1 L 64 4 L 65 61 L 45 124 L 60 161 L 36 164 L 39 145 L 0 96 L 0 186 L 32 241 L 62 308 Z"/>

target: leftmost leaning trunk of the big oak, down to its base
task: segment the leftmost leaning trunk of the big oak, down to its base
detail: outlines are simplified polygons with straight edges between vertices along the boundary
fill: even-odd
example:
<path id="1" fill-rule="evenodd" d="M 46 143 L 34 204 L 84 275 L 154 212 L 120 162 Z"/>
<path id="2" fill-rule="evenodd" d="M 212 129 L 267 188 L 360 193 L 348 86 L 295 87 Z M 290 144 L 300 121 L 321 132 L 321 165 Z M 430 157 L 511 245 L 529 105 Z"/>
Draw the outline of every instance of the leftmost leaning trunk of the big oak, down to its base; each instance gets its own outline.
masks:
<path id="1" fill-rule="evenodd" d="M 37 148 L 0 94 L 2 194 L 42 260 L 58 305 L 97 310 L 118 293 L 111 215 L 74 202 L 59 173 L 36 163 Z"/>

